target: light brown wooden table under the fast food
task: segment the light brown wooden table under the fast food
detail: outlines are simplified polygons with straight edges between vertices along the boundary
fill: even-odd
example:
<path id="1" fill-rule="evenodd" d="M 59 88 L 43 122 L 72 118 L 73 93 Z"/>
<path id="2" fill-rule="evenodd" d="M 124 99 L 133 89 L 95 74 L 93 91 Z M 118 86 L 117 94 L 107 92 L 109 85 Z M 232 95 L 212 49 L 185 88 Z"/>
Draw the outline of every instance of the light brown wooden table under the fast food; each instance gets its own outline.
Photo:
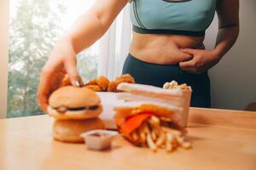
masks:
<path id="1" fill-rule="evenodd" d="M 103 152 L 56 142 L 48 116 L 0 120 L 0 169 L 256 169 L 256 112 L 191 108 L 189 114 L 193 149 L 171 154 L 121 137 Z"/>

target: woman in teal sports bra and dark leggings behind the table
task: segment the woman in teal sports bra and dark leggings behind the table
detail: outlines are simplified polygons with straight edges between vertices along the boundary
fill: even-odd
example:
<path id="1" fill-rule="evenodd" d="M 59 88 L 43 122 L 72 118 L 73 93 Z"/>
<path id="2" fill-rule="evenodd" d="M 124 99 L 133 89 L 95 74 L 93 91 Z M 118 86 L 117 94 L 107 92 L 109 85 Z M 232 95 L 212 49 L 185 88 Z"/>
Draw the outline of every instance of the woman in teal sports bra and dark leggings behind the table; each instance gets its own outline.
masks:
<path id="1" fill-rule="evenodd" d="M 65 73 L 79 86 L 76 54 L 102 37 L 126 3 L 128 0 L 97 0 L 56 43 L 38 87 L 38 102 L 44 111 L 52 87 Z M 130 6 L 133 37 L 123 73 L 130 73 L 138 83 L 159 87 L 172 80 L 186 82 L 193 88 L 191 105 L 210 107 L 207 70 L 236 42 L 239 1 L 133 0 Z M 214 49 L 207 50 L 203 45 L 205 30 L 215 11 L 217 42 Z"/>

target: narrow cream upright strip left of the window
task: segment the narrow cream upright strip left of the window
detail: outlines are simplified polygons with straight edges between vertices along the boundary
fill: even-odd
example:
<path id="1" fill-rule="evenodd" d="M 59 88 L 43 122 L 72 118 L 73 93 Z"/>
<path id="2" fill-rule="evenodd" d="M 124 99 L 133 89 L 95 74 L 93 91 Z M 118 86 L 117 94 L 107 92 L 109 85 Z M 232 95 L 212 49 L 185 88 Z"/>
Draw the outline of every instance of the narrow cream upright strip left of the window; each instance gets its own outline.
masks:
<path id="1" fill-rule="evenodd" d="M 6 116 L 7 111 L 7 71 L 8 71 L 8 0 L 0 1 L 0 118 Z"/>

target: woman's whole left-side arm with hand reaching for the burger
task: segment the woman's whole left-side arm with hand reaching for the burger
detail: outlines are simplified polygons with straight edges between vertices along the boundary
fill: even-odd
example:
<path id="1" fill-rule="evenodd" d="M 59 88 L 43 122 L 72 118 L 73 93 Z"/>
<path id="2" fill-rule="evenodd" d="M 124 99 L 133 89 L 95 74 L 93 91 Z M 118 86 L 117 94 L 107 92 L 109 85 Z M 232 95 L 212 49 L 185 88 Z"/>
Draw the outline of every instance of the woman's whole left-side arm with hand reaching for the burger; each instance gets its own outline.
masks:
<path id="1" fill-rule="evenodd" d="M 75 21 L 72 29 L 56 42 L 52 54 L 44 65 L 38 84 L 38 104 L 46 111 L 49 95 L 68 74 L 73 86 L 82 79 L 77 70 L 76 54 L 90 47 L 108 30 L 128 0 L 96 0 L 90 10 Z"/>

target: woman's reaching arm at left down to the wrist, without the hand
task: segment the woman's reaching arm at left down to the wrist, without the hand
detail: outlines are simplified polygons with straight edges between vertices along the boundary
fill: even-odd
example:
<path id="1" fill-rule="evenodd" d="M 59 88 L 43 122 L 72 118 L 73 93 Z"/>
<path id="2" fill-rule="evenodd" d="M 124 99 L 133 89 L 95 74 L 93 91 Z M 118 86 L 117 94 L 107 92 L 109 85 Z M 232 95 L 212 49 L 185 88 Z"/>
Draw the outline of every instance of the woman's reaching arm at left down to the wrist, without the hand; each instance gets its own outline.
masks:
<path id="1" fill-rule="evenodd" d="M 128 0 L 97 0 L 90 10 L 82 14 L 64 37 L 72 43 L 75 53 L 102 37 L 126 3 Z"/>

